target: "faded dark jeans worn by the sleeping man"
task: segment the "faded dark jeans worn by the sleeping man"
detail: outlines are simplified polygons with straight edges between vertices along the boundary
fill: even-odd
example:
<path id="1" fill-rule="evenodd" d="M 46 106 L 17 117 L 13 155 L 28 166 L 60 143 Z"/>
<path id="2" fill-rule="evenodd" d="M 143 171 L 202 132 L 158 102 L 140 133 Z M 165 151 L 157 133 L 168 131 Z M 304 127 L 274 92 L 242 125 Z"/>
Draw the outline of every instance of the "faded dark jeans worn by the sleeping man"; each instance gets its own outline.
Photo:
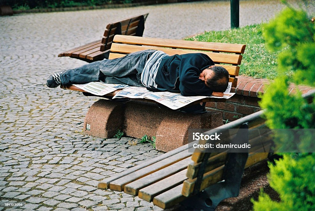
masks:
<path id="1" fill-rule="evenodd" d="M 68 86 L 102 81 L 143 87 L 141 73 L 154 52 L 155 50 L 138 51 L 121 58 L 95 61 L 79 68 L 65 70 L 60 75 L 61 84 Z"/>

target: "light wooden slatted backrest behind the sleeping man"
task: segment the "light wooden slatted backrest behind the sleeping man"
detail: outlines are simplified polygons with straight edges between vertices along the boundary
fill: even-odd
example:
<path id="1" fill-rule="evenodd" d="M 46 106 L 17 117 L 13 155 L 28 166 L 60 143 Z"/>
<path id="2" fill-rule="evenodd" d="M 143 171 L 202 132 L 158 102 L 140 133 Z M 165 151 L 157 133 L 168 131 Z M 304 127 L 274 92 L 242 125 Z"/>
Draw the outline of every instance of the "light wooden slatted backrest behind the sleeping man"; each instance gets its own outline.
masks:
<path id="1" fill-rule="evenodd" d="M 203 53 L 207 54 L 215 64 L 223 66 L 230 74 L 232 87 L 236 87 L 239 72 L 246 45 L 230 43 L 211 43 L 186 40 L 172 40 L 162 38 L 134 37 L 116 35 L 111 46 L 109 59 L 122 57 L 126 54 L 155 49 L 174 54 Z"/>

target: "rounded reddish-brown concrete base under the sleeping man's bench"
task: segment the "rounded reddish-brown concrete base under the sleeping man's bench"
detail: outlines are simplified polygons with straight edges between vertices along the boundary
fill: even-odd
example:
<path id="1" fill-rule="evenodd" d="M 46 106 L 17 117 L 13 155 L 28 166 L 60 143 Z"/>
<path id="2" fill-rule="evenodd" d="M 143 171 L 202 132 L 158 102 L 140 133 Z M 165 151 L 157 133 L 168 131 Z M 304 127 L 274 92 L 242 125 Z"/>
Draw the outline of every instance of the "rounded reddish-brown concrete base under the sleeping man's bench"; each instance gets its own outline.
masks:
<path id="1" fill-rule="evenodd" d="M 102 99 L 89 108 L 83 130 L 101 138 L 113 137 L 118 129 L 135 138 L 156 136 L 157 150 L 166 152 L 188 143 L 188 128 L 216 128 L 222 124 L 219 112 L 188 114 L 159 108 L 156 103 Z"/>

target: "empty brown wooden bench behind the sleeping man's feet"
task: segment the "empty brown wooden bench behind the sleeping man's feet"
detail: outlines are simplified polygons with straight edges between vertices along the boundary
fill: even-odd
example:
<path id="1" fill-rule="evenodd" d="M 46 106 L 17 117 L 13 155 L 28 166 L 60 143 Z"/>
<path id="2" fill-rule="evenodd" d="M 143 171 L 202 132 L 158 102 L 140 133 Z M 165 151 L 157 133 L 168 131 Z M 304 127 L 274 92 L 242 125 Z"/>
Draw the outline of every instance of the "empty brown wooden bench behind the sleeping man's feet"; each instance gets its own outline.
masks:
<path id="1" fill-rule="evenodd" d="M 87 62 L 108 59 L 109 49 L 111 48 L 114 36 L 116 34 L 123 34 L 142 37 L 144 23 L 148 15 L 149 13 L 108 24 L 101 40 L 67 50 L 59 54 L 58 57 L 69 56 Z"/>

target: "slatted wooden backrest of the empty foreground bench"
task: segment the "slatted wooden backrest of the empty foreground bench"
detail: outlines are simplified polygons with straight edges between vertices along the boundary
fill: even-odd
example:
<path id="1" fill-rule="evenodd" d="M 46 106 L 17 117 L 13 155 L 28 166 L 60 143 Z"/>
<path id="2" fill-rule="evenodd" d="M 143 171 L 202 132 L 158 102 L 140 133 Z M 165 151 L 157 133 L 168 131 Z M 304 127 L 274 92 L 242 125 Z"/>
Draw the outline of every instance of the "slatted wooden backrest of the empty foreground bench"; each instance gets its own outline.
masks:
<path id="1" fill-rule="evenodd" d="M 218 132 L 220 129 L 223 129 L 223 131 L 227 131 L 227 129 L 238 129 L 244 123 L 247 123 L 248 139 L 251 149 L 249 150 L 245 168 L 266 159 L 271 147 L 271 138 L 269 137 L 271 130 L 266 126 L 265 119 L 261 118 L 262 112 L 263 111 L 256 112 L 213 130 L 213 134 L 215 134 L 215 132 Z M 257 129 L 263 129 L 260 130 L 262 133 L 257 132 Z M 236 136 L 236 131 L 237 130 L 232 130 L 231 132 L 230 130 L 227 137 L 232 140 Z M 240 132 L 242 133 L 242 140 L 245 140 L 245 134 L 243 131 Z M 208 133 L 212 134 L 211 131 Z M 204 144 L 206 141 L 201 140 L 199 143 Z M 222 177 L 228 156 L 227 152 L 228 151 L 210 154 L 209 152 L 205 153 L 196 149 L 191 157 L 192 163 L 187 167 L 186 177 L 188 179 L 184 181 L 182 194 L 188 197 L 202 191 L 212 184 L 225 180 L 226 178 Z"/>

